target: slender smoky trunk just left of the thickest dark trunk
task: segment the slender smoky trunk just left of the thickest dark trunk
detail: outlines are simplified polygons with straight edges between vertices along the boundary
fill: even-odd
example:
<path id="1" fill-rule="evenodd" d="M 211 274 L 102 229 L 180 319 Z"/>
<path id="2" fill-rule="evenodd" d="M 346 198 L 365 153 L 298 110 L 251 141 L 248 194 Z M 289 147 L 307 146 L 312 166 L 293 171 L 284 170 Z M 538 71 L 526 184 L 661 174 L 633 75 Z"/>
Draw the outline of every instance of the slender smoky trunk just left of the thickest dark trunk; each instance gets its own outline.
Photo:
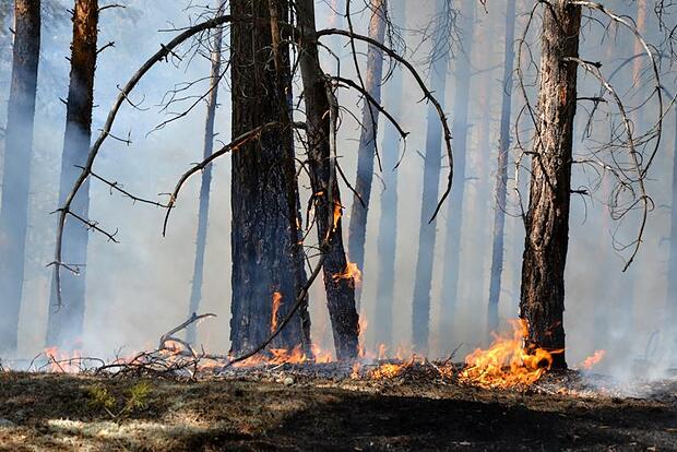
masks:
<path id="1" fill-rule="evenodd" d="M 221 0 L 217 4 L 223 5 Z M 216 16 L 223 15 L 223 8 L 218 7 Z M 223 47 L 223 28 L 214 31 L 214 47 L 212 49 L 212 73 L 210 75 L 210 96 L 206 102 L 206 119 L 204 121 L 204 150 L 203 158 L 207 158 L 214 151 L 214 120 L 216 118 L 216 107 L 218 105 L 218 82 L 221 81 L 221 51 Z M 200 310 L 202 300 L 202 282 L 204 281 L 204 254 L 206 251 L 206 229 L 210 212 L 210 190 L 212 185 L 212 166 L 202 173 L 202 185 L 200 186 L 200 207 L 198 213 L 198 240 L 195 242 L 195 264 L 193 266 L 193 279 L 190 290 L 189 316 Z M 191 323 L 186 331 L 186 338 L 193 344 L 197 341 L 197 325 Z"/>

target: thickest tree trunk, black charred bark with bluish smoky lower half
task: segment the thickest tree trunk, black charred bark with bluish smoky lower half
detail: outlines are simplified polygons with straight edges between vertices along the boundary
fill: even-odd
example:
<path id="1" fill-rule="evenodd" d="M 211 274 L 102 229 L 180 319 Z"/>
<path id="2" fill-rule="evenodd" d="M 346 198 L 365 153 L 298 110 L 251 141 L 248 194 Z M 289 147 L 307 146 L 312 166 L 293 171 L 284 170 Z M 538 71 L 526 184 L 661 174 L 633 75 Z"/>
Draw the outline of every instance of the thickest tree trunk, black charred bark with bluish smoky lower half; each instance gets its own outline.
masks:
<path id="1" fill-rule="evenodd" d="M 276 1 L 273 7 L 286 20 L 288 3 Z M 287 314 L 306 274 L 298 245 L 288 48 L 273 48 L 272 27 L 266 25 L 271 22 L 269 2 L 235 0 L 230 10 L 234 15 L 262 19 L 236 21 L 230 28 L 233 136 L 271 121 L 283 124 L 264 131 L 233 154 L 230 352 L 239 355 L 262 343 L 272 324 Z M 274 310 L 275 293 L 282 296 L 282 305 Z M 273 312 L 276 319 L 272 319 Z M 307 304 L 272 346 L 310 348 Z"/>

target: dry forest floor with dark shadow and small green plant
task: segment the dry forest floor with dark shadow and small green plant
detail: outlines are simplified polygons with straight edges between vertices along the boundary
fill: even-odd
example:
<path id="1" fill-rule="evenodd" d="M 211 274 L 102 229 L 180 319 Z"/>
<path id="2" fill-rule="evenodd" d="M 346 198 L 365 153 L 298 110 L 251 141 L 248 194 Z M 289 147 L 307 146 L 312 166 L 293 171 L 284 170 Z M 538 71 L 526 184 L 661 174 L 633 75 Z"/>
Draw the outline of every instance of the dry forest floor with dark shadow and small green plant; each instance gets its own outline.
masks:
<path id="1" fill-rule="evenodd" d="M 0 450 L 677 450 L 675 378 L 619 395 L 573 371 L 527 391 L 265 372 L 0 372 Z"/>

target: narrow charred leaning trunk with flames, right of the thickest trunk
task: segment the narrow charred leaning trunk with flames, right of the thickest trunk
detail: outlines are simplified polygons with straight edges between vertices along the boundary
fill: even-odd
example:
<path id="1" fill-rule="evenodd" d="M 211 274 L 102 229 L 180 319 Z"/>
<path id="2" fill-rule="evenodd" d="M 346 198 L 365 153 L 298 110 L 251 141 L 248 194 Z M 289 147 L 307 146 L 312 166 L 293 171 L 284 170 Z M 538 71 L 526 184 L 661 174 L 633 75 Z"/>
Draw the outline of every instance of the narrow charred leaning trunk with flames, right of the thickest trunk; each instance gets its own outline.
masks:
<path id="1" fill-rule="evenodd" d="M 318 56 L 313 0 L 296 2 L 300 27 L 299 61 L 304 82 L 306 122 L 308 134 L 308 160 L 310 182 L 314 199 L 314 218 L 321 251 L 324 253 L 322 269 L 329 314 L 332 322 L 334 345 L 339 359 L 354 359 L 358 354 L 358 314 L 355 308 L 355 286 L 352 279 L 335 278 L 345 272 L 347 260 L 343 246 L 341 194 L 335 177 L 335 156 L 332 155 L 330 96 Z M 331 115 L 330 115 L 331 114 Z M 333 218 L 333 219 L 330 219 Z"/>

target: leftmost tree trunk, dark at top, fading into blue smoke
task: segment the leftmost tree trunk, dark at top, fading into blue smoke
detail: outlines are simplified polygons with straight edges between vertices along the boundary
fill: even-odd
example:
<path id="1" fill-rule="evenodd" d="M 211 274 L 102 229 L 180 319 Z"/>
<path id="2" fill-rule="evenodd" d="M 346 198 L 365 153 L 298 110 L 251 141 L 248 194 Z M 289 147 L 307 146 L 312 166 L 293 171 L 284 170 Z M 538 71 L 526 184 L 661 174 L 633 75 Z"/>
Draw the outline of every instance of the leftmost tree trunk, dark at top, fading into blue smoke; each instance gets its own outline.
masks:
<path id="1" fill-rule="evenodd" d="M 17 343 L 39 53 L 40 1 L 15 0 L 0 210 L 0 353 L 14 353 Z"/>

